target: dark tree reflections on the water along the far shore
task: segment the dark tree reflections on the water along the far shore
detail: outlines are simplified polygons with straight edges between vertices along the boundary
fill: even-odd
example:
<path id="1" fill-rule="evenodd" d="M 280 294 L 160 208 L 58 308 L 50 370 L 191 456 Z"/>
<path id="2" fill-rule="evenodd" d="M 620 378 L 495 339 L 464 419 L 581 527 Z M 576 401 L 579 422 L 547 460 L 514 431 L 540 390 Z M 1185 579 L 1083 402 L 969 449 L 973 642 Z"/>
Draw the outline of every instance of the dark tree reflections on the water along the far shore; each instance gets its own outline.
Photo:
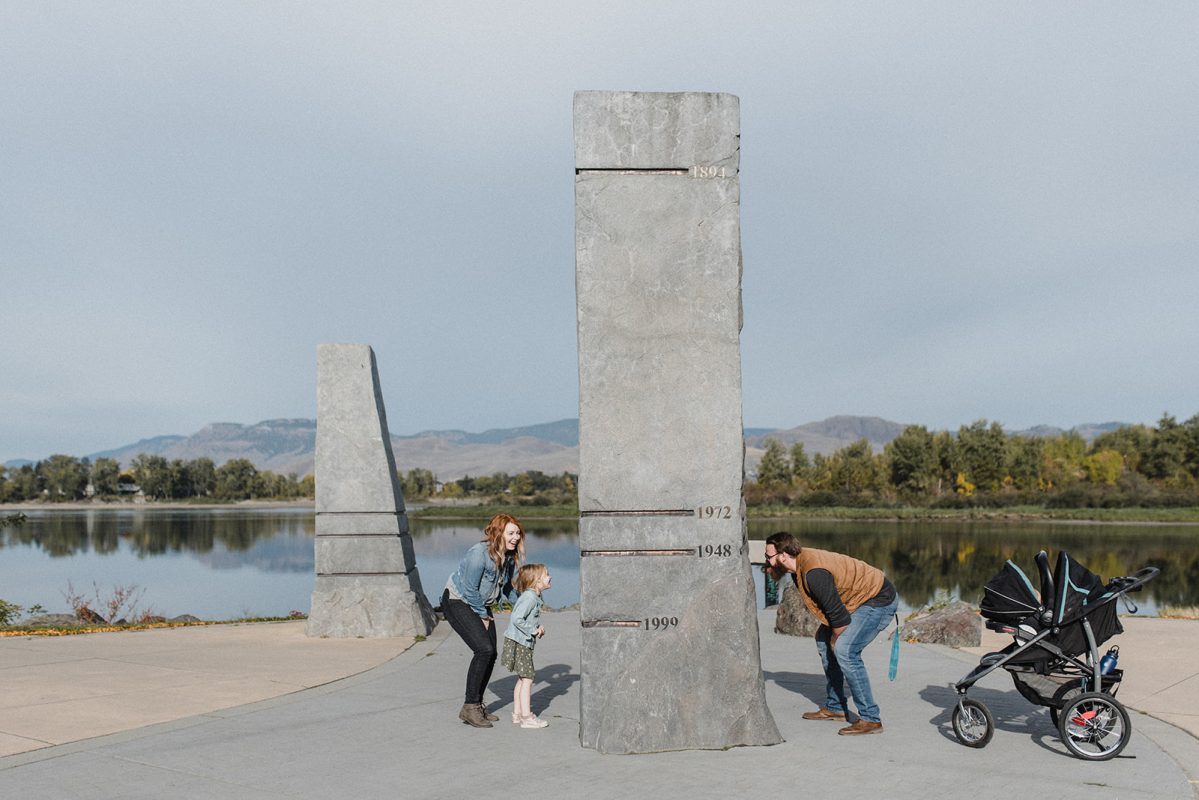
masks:
<path id="1" fill-rule="evenodd" d="M 311 537 L 312 512 L 183 510 L 86 511 L 29 516 L 25 524 L 0 530 L 0 545 L 36 546 L 52 557 L 115 553 L 121 540 L 139 557 L 167 553 L 246 552 L 273 536 Z M 1107 578 L 1157 566 L 1162 575 L 1145 596 L 1158 606 L 1199 604 L 1199 529 L 1179 525 L 1048 525 L 1043 523 L 824 523 L 807 519 L 752 522 L 749 535 L 765 539 L 789 530 L 802 542 L 874 564 L 891 576 L 908 606 L 923 606 L 938 591 L 977 602 L 983 584 L 1012 559 L 1034 577 L 1032 557 L 1044 548 L 1067 549 Z M 414 539 L 444 536 L 454 552 L 482 537 L 482 524 L 416 521 Z M 531 521 L 530 536 L 572 541 L 572 521 Z M 426 543 L 428 549 L 428 543 Z M 1135 599 L 1135 597 L 1134 597 Z"/>

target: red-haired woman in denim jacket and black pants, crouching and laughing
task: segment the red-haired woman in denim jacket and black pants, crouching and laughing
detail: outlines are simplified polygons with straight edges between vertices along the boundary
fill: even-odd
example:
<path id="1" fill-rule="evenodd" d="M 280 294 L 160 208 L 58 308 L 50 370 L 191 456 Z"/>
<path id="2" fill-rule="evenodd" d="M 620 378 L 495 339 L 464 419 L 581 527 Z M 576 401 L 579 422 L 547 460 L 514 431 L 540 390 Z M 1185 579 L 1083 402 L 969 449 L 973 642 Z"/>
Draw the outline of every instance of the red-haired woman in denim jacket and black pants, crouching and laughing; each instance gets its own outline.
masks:
<path id="1" fill-rule="evenodd" d="M 495 515 L 483 534 L 483 541 L 466 551 L 441 594 L 441 613 L 475 654 L 466 670 L 466 696 L 458 718 L 476 728 L 490 728 L 498 718 L 483 708 L 483 688 L 495 667 L 492 606 L 500 595 L 516 601 L 512 575 L 524 558 L 524 528 L 516 517 Z"/>

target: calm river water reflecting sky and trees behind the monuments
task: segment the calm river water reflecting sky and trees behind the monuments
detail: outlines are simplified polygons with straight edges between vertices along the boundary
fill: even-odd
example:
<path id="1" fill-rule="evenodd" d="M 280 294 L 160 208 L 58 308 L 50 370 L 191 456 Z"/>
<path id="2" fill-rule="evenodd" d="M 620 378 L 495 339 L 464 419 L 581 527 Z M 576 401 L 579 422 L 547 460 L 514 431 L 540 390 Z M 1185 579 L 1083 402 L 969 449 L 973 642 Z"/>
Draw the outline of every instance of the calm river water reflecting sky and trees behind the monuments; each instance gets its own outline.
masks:
<path id="1" fill-rule="evenodd" d="M 517 510 L 519 516 L 519 510 Z M 0 530 L 0 599 L 67 610 L 65 594 L 102 596 L 140 588 L 140 609 L 203 619 L 307 613 L 313 587 L 314 515 L 297 509 L 96 509 L 30 511 L 19 528 Z M 899 589 L 902 609 L 938 594 L 977 603 L 982 585 L 1006 559 L 1032 575 L 1038 549 L 1065 548 L 1107 578 L 1143 566 L 1162 575 L 1134 595 L 1141 614 L 1159 606 L 1199 606 L 1199 527 L 1049 523 L 751 522 L 751 539 L 789 530 L 813 547 L 882 567 Z M 549 606 L 579 600 L 578 528 L 528 524 L 530 561 L 549 565 Z M 446 577 L 480 525 L 412 522 L 417 569 L 436 602 Z M 758 601 L 764 589 L 754 571 Z"/>

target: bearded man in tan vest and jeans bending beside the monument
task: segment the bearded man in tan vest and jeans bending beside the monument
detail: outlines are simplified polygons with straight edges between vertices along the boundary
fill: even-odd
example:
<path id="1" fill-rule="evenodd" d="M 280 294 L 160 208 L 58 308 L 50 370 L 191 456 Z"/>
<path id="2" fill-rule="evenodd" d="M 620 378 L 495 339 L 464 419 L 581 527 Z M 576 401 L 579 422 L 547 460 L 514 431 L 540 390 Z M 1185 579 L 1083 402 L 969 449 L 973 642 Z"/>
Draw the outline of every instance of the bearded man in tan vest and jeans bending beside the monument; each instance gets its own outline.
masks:
<path id="1" fill-rule="evenodd" d="M 862 650 L 896 614 L 899 597 L 891 581 L 866 561 L 800 547 L 795 536 L 783 531 L 766 540 L 766 564 L 777 576 L 783 572 L 795 576 L 803 603 L 820 621 L 817 650 L 824 664 L 829 698 L 803 718 L 848 721 L 845 685 L 849 684 L 858 720 L 837 733 L 845 736 L 882 733 Z"/>

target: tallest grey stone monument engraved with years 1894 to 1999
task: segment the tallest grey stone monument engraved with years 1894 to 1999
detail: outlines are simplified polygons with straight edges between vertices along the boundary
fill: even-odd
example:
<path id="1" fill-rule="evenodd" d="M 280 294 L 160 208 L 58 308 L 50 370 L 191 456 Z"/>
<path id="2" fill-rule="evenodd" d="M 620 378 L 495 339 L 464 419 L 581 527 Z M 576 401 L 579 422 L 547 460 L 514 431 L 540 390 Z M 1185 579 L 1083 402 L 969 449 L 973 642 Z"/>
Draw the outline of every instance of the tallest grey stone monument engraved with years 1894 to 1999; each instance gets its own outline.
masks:
<path id="1" fill-rule="evenodd" d="M 580 738 L 782 741 L 741 497 L 740 110 L 574 95 Z"/>

